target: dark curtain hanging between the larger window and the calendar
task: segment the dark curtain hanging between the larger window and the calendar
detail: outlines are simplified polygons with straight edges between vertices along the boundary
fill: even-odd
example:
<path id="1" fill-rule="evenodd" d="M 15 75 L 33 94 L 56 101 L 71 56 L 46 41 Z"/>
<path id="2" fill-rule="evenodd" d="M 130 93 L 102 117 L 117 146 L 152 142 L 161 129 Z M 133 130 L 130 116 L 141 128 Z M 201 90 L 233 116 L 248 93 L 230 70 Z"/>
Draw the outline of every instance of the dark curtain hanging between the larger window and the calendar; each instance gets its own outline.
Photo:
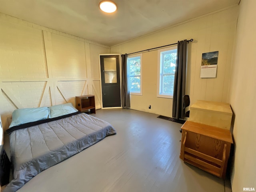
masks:
<path id="1" fill-rule="evenodd" d="M 178 41 L 177 60 L 174 74 L 174 90 L 172 100 L 172 117 L 183 117 L 183 96 L 186 88 L 187 40 Z"/>

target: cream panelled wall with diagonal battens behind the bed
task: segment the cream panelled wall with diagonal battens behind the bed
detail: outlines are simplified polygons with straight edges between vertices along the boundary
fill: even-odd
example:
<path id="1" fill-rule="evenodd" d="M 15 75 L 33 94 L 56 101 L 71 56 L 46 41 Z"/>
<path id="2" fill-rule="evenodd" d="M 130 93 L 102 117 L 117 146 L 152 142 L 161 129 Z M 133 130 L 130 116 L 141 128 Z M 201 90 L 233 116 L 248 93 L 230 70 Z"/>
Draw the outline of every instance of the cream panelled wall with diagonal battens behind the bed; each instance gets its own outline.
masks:
<path id="1" fill-rule="evenodd" d="M 94 94 L 101 108 L 98 54 L 110 47 L 0 13 L 0 114 Z"/>

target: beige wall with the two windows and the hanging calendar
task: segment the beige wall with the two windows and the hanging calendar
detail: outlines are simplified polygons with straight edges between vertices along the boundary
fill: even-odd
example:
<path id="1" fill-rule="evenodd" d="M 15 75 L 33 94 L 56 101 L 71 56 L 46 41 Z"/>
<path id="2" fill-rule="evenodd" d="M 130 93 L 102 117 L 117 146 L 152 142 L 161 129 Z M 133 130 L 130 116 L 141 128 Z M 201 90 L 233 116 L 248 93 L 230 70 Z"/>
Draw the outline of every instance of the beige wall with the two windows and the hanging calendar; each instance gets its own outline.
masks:
<path id="1" fill-rule="evenodd" d="M 237 12 L 238 6 L 214 12 L 112 46 L 111 53 L 131 53 L 193 38 L 188 44 L 186 94 L 190 95 L 191 103 L 197 100 L 227 102 Z M 212 51 L 219 51 L 217 77 L 200 78 L 202 53 Z M 172 99 L 157 97 L 157 56 L 157 50 L 143 53 L 143 95 L 130 96 L 131 108 L 172 116 Z M 149 104 L 151 109 L 148 109 Z"/>

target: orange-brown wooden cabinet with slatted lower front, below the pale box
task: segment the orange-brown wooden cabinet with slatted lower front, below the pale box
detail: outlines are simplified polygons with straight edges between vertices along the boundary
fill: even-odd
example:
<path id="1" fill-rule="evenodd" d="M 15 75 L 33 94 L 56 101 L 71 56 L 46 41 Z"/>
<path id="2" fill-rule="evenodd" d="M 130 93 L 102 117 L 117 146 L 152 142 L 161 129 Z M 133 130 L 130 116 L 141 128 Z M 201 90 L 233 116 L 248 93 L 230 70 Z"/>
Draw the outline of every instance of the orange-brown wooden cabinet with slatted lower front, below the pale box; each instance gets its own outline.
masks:
<path id="1" fill-rule="evenodd" d="M 225 178 L 230 146 L 229 130 L 186 121 L 182 128 L 180 158 L 220 178 Z"/>

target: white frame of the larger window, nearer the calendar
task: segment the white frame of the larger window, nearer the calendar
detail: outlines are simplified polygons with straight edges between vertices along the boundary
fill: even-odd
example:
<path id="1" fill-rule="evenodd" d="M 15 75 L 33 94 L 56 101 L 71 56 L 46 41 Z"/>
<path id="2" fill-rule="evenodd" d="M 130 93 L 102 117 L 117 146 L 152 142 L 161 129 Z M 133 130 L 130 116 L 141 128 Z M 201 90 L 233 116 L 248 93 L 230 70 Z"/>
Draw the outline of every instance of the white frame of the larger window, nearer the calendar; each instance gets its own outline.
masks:
<path id="1" fill-rule="evenodd" d="M 158 73 L 157 73 L 157 97 L 162 98 L 173 98 L 172 94 L 162 94 L 160 93 L 160 87 L 162 86 L 162 52 L 176 50 L 177 46 L 172 46 L 164 49 L 158 50 Z"/>

